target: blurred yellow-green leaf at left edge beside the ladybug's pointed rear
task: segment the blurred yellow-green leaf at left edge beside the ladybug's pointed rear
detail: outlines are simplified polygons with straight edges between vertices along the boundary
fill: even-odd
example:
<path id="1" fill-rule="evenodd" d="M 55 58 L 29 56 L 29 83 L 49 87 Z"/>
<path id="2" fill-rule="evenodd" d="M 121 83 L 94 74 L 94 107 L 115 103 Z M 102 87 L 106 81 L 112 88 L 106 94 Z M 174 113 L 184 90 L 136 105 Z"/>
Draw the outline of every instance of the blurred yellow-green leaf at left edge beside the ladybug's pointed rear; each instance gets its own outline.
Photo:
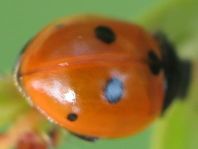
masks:
<path id="1" fill-rule="evenodd" d="M 0 128 L 8 126 L 17 116 L 26 112 L 28 107 L 11 77 L 0 78 Z"/>

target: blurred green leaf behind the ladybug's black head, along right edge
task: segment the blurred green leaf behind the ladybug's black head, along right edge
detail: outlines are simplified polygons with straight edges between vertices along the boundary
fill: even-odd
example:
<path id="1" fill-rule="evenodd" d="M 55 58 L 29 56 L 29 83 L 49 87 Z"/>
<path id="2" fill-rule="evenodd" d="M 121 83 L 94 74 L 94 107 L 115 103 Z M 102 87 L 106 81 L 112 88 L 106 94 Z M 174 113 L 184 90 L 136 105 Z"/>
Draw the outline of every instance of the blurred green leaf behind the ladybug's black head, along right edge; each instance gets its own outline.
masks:
<path id="1" fill-rule="evenodd" d="M 175 0 L 145 16 L 144 24 L 160 30 L 174 41 L 181 57 L 193 61 L 189 96 L 176 101 L 156 123 L 152 149 L 196 149 L 198 146 L 198 1 Z"/>

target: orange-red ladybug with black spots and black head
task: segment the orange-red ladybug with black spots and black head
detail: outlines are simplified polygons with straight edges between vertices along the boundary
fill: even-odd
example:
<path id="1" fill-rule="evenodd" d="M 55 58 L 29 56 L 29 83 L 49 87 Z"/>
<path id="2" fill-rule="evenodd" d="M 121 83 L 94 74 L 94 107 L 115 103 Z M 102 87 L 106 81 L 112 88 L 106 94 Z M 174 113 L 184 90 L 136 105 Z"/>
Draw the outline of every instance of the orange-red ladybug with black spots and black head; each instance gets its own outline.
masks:
<path id="1" fill-rule="evenodd" d="M 93 141 L 136 134 L 184 97 L 191 63 L 162 33 L 80 16 L 50 24 L 24 48 L 18 89 L 48 119 Z"/>

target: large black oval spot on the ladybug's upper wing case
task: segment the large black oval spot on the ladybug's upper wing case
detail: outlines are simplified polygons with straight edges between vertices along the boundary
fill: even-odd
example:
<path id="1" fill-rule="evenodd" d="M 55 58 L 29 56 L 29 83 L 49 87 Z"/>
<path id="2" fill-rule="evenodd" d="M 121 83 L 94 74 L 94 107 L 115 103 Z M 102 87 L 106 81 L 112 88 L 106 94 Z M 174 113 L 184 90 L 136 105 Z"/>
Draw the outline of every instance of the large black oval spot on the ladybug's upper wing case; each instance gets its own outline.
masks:
<path id="1" fill-rule="evenodd" d="M 116 40 L 115 33 L 112 31 L 111 28 L 109 28 L 107 26 L 96 27 L 95 34 L 99 40 L 101 40 L 107 44 L 113 43 Z"/>

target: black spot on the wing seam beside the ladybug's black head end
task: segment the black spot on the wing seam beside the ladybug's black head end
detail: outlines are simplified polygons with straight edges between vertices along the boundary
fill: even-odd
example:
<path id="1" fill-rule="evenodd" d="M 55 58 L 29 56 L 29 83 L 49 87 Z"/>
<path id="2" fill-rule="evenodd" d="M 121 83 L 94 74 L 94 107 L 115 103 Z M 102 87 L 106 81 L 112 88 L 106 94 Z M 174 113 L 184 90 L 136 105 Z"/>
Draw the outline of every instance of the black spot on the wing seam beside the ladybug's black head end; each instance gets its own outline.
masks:
<path id="1" fill-rule="evenodd" d="M 148 58 L 149 58 L 149 67 L 151 72 L 154 75 L 158 75 L 162 68 L 162 62 L 152 50 L 148 53 Z"/>

